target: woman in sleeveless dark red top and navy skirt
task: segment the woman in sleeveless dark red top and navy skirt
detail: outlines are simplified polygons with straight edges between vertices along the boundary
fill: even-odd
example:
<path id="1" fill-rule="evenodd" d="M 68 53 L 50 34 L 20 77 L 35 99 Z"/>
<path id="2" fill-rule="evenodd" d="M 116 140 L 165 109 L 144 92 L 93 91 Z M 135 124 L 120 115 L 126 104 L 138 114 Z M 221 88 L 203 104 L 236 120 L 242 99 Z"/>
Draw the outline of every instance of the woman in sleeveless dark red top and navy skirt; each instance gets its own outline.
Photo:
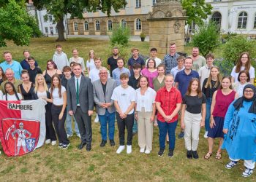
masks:
<path id="1" fill-rule="evenodd" d="M 220 138 L 219 148 L 215 158 L 222 159 L 221 151 L 224 138 L 224 133 L 222 130 L 225 114 L 227 112 L 228 106 L 230 106 L 230 103 L 232 103 L 235 98 L 238 98 L 238 93 L 232 90 L 231 78 L 229 76 L 223 77 L 220 89 L 215 91 L 214 95 L 212 96 L 211 122 L 210 128 L 208 130 L 209 151 L 205 155 L 205 159 L 209 159 L 211 157 L 212 149 L 214 146 L 214 138 Z"/>

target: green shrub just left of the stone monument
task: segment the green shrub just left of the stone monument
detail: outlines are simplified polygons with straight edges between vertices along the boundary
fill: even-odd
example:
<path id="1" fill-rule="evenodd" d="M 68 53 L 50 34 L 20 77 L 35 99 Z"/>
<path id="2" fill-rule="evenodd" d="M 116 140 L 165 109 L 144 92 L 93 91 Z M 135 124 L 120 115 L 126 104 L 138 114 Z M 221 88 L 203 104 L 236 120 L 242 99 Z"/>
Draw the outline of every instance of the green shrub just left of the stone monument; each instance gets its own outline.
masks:
<path id="1" fill-rule="evenodd" d="M 110 43 L 112 46 L 120 44 L 127 46 L 129 41 L 129 29 L 122 26 L 116 26 L 113 28 L 112 35 L 110 36 Z"/>

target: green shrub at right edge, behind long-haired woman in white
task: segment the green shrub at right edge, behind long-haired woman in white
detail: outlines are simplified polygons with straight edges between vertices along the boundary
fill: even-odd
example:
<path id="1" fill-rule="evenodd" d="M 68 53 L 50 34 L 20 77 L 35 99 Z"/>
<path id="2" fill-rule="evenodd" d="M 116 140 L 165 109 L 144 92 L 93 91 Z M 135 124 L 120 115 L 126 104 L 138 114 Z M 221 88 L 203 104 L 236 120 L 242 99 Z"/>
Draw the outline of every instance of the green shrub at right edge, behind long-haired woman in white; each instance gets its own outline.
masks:
<path id="1" fill-rule="evenodd" d="M 246 36 L 238 35 L 233 36 L 223 48 L 223 58 L 225 60 L 230 60 L 236 65 L 239 55 L 242 52 L 249 52 L 250 57 L 256 58 L 256 41 L 247 40 Z"/>

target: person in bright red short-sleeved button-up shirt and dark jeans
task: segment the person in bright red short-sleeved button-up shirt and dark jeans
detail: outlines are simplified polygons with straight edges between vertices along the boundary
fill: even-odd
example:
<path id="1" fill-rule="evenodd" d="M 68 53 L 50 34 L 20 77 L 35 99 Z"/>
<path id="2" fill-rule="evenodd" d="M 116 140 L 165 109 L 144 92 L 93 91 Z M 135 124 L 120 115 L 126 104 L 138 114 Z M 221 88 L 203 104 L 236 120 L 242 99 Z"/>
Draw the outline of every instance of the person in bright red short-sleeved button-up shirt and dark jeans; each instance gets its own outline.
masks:
<path id="1" fill-rule="evenodd" d="M 168 74 L 165 76 L 165 87 L 157 91 L 157 123 L 159 127 L 159 146 L 158 155 L 161 157 L 165 151 L 165 136 L 169 136 L 168 157 L 173 157 L 175 148 L 175 130 L 178 123 L 178 111 L 181 109 L 181 92 L 173 87 L 174 78 Z"/>

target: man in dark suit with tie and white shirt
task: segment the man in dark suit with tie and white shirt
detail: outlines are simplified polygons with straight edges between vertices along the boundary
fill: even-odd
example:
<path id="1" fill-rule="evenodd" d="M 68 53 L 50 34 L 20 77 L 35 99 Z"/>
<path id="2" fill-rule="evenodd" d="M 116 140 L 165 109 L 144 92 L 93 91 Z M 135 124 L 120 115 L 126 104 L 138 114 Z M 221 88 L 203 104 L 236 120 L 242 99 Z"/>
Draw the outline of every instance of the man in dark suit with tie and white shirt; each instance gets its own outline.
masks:
<path id="1" fill-rule="evenodd" d="M 78 149 L 91 150 L 91 115 L 94 110 L 94 91 L 91 80 L 82 75 L 80 63 L 74 63 L 74 77 L 67 82 L 67 111 L 75 116 L 81 136 Z"/>

